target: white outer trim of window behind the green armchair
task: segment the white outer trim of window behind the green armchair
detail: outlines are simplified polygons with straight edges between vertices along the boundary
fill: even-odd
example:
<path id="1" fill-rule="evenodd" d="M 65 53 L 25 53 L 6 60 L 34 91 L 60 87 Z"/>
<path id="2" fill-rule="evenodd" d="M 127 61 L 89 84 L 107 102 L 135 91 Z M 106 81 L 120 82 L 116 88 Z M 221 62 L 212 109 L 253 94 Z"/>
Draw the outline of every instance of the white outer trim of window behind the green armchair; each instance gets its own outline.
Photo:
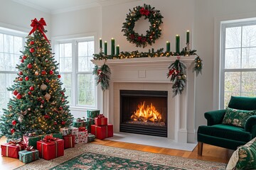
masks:
<path id="1" fill-rule="evenodd" d="M 216 17 L 214 18 L 214 52 L 213 52 L 213 110 L 223 109 L 223 103 L 224 98 L 220 95 L 222 93 L 223 88 L 221 87 L 221 84 L 224 84 L 223 82 L 223 72 L 220 72 L 220 68 L 224 68 L 221 64 L 224 64 L 222 60 L 223 58 L 220 58 L 220 56 L 223 56 L 224 51 L 221 50 L 221 42 L 223 42 L 223 33 L 220 32 L 220 30 L 223 31 L 222 25 L 227 23 L 234 23 L 234 22 L 248 22 L 252 23 L 252 21 L 255 21 L 255 13 L 245 13 L 240 16 L 225 16 L 225 17 Z M 231 24 L 230 24 L 231 25 Z M 224 49 L 224 48 L 223 48 Z M 248 69 L 246 69 L 248 70 Z"/>

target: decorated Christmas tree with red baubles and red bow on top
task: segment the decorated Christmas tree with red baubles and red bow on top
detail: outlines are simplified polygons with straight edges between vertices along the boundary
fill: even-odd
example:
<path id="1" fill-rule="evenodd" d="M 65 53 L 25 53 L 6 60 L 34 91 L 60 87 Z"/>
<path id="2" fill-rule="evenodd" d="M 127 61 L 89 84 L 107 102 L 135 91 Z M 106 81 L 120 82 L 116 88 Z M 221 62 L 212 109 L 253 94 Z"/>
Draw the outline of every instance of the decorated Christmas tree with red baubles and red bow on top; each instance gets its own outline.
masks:
<path id="1" fill-rule="evenodd" d="M 29 132 L 49 134 L 59 132 L 73 121 L 65 89 L 61 88 L 58 64 L 50 52 L 41 18 L 32 20 L 26 46 L 17 64 L 18 77 L 9 91 L 14 94 L 1 116 L 1 136 L 19 138 Z"/>

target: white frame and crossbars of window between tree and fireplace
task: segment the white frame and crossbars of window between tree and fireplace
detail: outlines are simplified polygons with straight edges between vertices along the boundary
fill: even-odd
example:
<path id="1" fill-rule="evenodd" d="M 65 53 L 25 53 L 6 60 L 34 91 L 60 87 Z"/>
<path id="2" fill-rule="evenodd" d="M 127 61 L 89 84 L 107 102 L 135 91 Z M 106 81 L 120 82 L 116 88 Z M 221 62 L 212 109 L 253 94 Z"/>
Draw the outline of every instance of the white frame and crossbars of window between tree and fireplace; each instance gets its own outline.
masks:
<path id="1" fill-rule="evenodd" d="M 53 49 L 54 49 L 53 53 L 55 53 L 55 58 L 58 61 L 58 63 L 60 63 L 60 54 L 58 52 L 59 45 L 62 43 L 71 43 L 72 44 L 72 72 L 60 72 L 60 75 L 71 73 L 72 105 L 70 105 L 70 109 L 72 109 L 74 111 L 97 109 L 97 105 L 98 105 L 97 86 L 95 86 L 95 105 L 94 106 L 78 105 L 78 74 L 91 74 L 92 75 L 92 71 L 91 72 L 79 72 L 78 71 L 78 42 L 85 42 L 85 41 L 91 41 L 91 40 L 94 41 L 94 47 L 96 48 L 95 35 L 93 35 L 93 34 L 68 36 L 68 37 L 64 36 L 64 37 L 53 38 Z M 95 49 L 94 49 L 94 53 L 95 53 Z"/>

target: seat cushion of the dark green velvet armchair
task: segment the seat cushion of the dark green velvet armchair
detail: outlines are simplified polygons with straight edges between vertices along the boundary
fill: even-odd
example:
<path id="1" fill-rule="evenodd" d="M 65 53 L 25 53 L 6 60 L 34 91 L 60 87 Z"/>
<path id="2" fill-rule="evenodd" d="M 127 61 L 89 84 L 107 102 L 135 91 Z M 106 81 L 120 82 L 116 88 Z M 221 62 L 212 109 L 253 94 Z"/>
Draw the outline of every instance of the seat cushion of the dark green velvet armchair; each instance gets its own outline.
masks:
<path id="1" fill-rule="evenodd" d="M 198 127 L 198 133 L 211 137 L 220 137 L 229 140 L 248 142 L 252 140 L 252 134 L 246 132 L 244 128 L 239 128 L 232 125 L 201 125 Z"/>

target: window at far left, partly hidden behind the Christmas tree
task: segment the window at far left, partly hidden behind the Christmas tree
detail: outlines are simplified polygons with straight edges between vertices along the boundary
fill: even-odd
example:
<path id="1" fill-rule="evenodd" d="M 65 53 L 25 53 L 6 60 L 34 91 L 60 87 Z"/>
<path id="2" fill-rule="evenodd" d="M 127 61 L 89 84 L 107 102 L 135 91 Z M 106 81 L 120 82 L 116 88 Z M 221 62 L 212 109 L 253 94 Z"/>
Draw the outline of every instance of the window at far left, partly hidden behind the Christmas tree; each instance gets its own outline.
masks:
<path id="1" fill-rule="evenodd" d="M 19 31 L 0 28 L 0 113 L 12 97 L 11 91 L 7 91 L 7 88 L 14 84 L 17 77 L 16 64 L 20 64 L 24 36 L 25 34 Z"/>

